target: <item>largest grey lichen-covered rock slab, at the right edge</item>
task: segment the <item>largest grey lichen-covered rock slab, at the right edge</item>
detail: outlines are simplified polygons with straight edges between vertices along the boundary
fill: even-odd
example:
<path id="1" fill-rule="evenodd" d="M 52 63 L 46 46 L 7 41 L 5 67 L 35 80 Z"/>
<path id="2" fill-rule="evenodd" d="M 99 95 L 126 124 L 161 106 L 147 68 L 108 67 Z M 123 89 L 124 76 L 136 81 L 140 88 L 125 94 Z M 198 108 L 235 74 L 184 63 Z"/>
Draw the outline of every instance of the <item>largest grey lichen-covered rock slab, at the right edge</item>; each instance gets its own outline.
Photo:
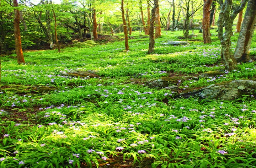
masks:
<path id="1" fill-rule="evenodd" d="M 192 92 L 182 92 L 179 97 L 199 97 L 208 99 L 234 100 L 242 95 L 254 95 L 256 81 L 251 80 L 233 80 L 219 84 L 209 85 L 207 87 Z"/>

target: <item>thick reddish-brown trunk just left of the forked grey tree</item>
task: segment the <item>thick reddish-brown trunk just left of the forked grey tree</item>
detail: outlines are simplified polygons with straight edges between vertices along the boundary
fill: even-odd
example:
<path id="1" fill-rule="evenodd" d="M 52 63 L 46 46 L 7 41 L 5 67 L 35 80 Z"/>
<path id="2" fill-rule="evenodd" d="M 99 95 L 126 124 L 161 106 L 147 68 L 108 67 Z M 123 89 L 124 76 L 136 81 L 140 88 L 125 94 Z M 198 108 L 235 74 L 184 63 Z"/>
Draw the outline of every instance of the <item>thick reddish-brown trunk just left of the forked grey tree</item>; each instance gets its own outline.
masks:
<path id="1" fill-rule="evenodd" d="M 212 0 L 204 0 L 203 5 L 203 40 L 204 44 L 211 43 L 210 39 L 210 6 L 212 4 Z"/>

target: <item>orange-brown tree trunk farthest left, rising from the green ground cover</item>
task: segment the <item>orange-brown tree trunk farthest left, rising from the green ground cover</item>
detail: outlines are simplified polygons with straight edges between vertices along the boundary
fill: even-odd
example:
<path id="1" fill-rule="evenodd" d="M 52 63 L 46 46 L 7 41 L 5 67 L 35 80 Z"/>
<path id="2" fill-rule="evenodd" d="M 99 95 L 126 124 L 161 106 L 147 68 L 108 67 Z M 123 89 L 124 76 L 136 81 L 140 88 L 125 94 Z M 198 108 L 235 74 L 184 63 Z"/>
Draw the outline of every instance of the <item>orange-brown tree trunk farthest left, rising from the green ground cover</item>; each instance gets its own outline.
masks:
<path id="1" fill-rule="evenodd" d="M 14 7 L 18 7 L 17 0 L 13 0 Z M 20 35 L 20 11 L 14 9 L 15 18 L 14 18 L 14 37 L 15 37 L 15 50 L 17 54 L 18 64 L 25 63 L 23 57 L 23 51 L 21 46 L 21 35 Z"/>

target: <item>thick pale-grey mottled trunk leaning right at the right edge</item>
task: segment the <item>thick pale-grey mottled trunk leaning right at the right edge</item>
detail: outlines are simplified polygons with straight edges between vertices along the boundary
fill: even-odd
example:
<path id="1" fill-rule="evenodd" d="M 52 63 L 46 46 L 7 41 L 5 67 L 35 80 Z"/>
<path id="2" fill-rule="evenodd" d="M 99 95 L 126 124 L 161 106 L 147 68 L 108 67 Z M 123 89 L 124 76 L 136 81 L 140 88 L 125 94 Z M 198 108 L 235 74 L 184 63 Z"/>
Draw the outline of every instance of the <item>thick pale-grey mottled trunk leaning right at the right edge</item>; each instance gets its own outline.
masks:
<path id="1" fill-rule="evenodd" d="M 249 50 L 251 46 L 252 35 L 254 34 L 254 29 L 256 26 L 255 6 L 255 0 L 248 1 L 244 21 L 242 22 L 241 31 L 234 53 L 234 57 L 238 63 L 249 61 Z"/>

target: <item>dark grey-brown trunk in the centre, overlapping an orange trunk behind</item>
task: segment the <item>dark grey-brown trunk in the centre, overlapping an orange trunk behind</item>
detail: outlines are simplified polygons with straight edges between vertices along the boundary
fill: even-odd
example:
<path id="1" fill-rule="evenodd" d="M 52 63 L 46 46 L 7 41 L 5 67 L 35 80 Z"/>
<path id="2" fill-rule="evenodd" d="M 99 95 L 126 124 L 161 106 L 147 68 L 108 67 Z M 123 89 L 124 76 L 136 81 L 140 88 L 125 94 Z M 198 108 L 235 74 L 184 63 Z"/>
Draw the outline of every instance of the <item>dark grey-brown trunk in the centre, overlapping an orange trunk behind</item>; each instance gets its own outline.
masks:
<path id="1" fill-rule="evenodd" d="M 151 10 L 150 27 L 149 27 L 149 49 L 148 54 L 154 52 L 155 49 L 155 38 L 154 38 L 154 23 L 156 17 L 156 9 L 159 7 L 158 0 L 154 0 L 154 7 Z"/>

